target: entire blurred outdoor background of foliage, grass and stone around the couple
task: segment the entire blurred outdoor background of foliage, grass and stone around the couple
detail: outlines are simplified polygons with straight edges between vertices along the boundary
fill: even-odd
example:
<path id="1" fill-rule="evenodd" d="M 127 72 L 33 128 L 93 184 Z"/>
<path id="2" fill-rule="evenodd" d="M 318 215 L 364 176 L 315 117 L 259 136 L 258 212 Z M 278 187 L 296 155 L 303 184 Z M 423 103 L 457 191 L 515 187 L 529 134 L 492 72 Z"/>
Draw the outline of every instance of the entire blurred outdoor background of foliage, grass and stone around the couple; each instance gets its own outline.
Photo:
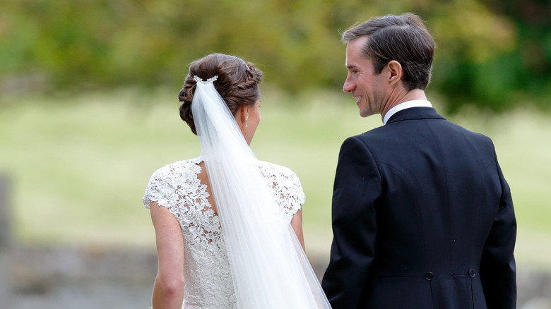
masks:
<path id="1" fill-rule="evenodd" d="M 157 261 L 141 198 L 155 169 L 199 154 L 177 93 L 211 52 L 265 73 L 251 147 L 300 177 L 321 275 L 340 143 L 382 124 L 341 90 L 340 32 L 404 12 L 438 45 L 429 100 L 494 140 L 519 224 L 519 308 L 551 308 L 547 0 L 2 0 L 0 307 L 150 305 Z"/>

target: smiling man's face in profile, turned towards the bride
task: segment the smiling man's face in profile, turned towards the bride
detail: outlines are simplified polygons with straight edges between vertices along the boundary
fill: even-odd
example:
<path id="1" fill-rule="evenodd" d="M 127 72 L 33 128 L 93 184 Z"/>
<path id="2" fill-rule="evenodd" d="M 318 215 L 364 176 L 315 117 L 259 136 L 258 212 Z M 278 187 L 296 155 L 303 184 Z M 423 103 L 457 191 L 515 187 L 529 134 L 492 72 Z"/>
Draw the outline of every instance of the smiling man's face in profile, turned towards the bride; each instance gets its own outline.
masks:
<path id="1" fill-rule="evenodd" d="M 348 42 L 346 46 L 346 68 L 348 75 L 343 91 L 352 93 L 360 116 L 380 114 L 384 102 L 384 83 L 381 74 L 374 74 L 371 59 L 362 54 L 367 36 Z"/>

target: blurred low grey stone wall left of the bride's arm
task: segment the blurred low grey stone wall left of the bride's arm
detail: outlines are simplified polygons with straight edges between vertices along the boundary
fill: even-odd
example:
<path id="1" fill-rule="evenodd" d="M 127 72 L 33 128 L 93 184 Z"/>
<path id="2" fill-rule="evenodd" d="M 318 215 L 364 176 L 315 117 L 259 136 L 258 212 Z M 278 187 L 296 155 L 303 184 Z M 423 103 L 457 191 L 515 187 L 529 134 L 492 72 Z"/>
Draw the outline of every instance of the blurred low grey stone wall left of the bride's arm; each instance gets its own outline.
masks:
<path id="1" fill-rule="evenodd" d="M 150 305 L 155 253 L 16 246 L 0 262 L 0 308 L 143 308 Z"/>

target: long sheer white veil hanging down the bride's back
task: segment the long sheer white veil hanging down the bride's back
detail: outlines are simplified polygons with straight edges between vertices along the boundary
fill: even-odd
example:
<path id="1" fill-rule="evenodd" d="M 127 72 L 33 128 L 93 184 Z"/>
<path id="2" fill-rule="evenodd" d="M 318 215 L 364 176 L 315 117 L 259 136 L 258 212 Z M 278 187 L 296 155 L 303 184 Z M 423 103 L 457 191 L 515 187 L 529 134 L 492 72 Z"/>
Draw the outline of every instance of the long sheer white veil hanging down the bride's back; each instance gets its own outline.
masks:
<path id="1" fill-rule="evenodd" d="M 225 236 L 237 305 L 331 308 L 294 231 L 279 217 L 254 153 L 215 90 L 216 78 L 194 76 L 191 111 Z"/>

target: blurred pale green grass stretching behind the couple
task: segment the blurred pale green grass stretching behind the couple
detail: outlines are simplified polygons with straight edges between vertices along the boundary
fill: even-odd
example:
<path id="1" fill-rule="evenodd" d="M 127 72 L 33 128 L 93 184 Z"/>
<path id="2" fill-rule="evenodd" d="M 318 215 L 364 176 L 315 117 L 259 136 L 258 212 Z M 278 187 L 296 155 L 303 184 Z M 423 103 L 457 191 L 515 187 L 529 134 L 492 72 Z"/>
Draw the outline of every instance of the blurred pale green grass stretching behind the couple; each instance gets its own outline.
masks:
<path id="1" fill-rule="evenodd" d="M 25 243 L 154 247 L 141 198 L 160 166 L 196 157 L 196 136 L 175 93 L 138 90 L 0 102 L 0 173 L 13 180 L 13 229 Z M 438 107 L 437 107 L 438 108 Z M 331 190 L 340 143 L 381 125 L 362 119 L 350 95 L 296 97 L 265 90 L 256 156 L 294 170 L 307 195 L 309 253 L 327 255 Z M 519 265 L 551 269 L 551 116 L 464 111 L 452 121 L 489 135 L 511 185 Z"/>

